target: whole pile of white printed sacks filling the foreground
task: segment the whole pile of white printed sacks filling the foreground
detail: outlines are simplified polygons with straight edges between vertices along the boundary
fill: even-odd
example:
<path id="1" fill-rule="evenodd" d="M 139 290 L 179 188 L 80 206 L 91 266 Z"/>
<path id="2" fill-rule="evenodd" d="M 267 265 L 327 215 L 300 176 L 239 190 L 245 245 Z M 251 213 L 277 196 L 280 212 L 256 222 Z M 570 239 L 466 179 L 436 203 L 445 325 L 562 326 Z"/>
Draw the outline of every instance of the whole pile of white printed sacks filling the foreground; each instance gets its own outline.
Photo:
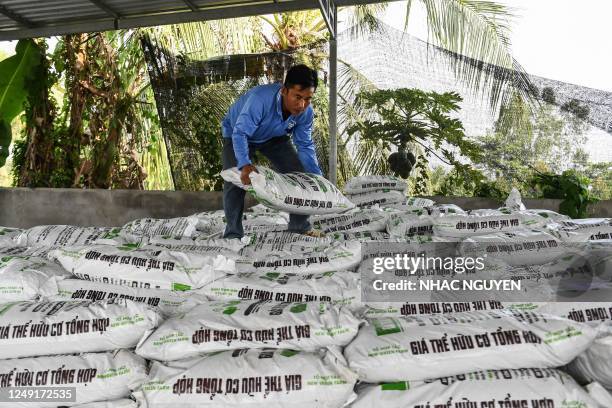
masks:
<path id="1" fill-rule="evenodd" d="M 252 179 L 266 205 L 245 213 L 242 240 L 221 238 L 220 211 L 0 227 L 0 388 L 76 388 L 75 402 L 0 407 L 612 407 L 612 299 L 367 304 L 358 273 L 362 242 L 459 241 L 466 255 L 512 244 L 492 274 L 548 276 L 572 261 L 555 243 L 609 251 L 612 220 L 514 194 L 468 212 L 390 176 L 346 195 L 313 175 Z M 288 212 L 327 236 L 283 232 Z"/>

